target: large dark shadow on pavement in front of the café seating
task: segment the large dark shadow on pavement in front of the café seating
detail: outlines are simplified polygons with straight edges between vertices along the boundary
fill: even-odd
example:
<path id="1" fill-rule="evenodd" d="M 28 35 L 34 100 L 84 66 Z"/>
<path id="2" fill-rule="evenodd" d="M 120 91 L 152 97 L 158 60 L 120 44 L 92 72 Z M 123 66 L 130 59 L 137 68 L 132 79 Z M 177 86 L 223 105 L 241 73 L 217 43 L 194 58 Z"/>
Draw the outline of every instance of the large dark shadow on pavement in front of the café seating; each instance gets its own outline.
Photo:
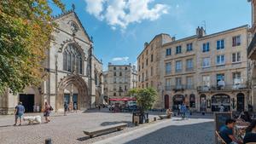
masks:
<path id="1" fill-rule="evenodd" d="M 188 125 L 170 125 L 143 135 L 125 144 L 213 144 L 213 122 Z"/>

